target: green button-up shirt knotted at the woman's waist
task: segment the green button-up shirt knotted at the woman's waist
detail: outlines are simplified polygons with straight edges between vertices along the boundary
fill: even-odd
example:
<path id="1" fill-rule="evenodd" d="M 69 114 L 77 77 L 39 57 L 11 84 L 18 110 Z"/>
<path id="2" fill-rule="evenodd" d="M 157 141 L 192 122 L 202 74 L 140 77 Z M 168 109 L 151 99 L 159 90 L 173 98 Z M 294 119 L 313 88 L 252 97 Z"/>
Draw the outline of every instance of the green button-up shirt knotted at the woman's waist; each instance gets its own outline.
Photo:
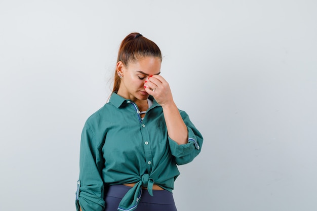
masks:
<path id="1" fill-rule="evenodd" d="M 80 176 L 76 207 L 83 211 L 105 208 L 104 187 L 136 183 L 122 199 L 118 210 L 136 208 L 142 186 L 152 195 L 157 184 L 172 192 L 180 174 L 177 165 L 194 159 L 201 151 L 203 137 L 179 110 L 188 129 L 188 143 L 178 145 L 167 134 L 163 109 L 153 104 L 144 119 L 137 105 L 112 93 L 110 100 L 85 123 L 80 151 Z"/>

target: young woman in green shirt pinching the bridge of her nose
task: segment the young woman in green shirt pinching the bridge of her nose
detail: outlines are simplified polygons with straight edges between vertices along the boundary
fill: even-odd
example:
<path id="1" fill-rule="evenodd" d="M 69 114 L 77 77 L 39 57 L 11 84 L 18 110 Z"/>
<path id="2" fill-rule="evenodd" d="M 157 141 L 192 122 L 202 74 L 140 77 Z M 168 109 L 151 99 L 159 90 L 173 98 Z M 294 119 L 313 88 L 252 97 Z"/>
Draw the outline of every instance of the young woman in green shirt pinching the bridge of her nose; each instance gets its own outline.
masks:
<path id="1" fill-rule="evenodd" d="M 177 210 L 177 165 L 200 153 L 203 137 L 173 101 L 161 62 L 141 34 L 122 41 L 110 100 L 83 129 L 77 210 Z"/>

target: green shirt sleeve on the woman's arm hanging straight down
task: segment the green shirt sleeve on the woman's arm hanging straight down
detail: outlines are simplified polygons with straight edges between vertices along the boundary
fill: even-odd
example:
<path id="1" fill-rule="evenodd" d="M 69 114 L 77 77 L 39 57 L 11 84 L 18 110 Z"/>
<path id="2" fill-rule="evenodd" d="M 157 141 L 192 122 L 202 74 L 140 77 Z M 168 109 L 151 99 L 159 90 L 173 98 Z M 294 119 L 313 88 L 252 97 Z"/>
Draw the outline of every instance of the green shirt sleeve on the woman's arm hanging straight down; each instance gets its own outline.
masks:
<path id="1" fill-rule="evenodd" d="M 77 211 L 80 207 L 83 211 L 102 211 L 105 208 L 104 183 L 101 176 L 104 159 L 100 142 L 86 123 L 81 139 L 80 176 L 76 191 Z"/>

